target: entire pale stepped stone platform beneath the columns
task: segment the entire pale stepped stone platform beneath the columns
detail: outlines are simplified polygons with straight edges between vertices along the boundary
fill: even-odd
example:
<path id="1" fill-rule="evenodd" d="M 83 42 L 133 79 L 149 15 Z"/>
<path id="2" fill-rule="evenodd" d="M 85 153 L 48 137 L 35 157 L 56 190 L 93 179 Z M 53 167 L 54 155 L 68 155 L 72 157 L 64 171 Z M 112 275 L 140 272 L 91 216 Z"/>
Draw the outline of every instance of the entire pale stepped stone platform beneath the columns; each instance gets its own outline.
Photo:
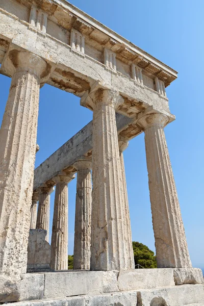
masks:
<path id="1" fill-rule="evenodd" d="M 36 306 L 204 305 L 203 276 L 195 268 L 27 273 L 16 282 L 0 278 L 0 302 Z"/>

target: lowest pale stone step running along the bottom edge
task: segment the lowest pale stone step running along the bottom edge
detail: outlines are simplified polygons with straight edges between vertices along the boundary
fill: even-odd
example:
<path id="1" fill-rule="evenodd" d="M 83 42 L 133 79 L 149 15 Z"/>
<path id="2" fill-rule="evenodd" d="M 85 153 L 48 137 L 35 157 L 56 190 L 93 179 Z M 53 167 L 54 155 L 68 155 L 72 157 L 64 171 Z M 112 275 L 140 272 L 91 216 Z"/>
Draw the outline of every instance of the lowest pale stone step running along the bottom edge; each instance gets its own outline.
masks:
<path id="1" fill-rule="evenodd" d="M 11 303 L 7 303 L 11 304 Z M 204 306 L 203 285 L 14 302 L 10 306 Z"/>

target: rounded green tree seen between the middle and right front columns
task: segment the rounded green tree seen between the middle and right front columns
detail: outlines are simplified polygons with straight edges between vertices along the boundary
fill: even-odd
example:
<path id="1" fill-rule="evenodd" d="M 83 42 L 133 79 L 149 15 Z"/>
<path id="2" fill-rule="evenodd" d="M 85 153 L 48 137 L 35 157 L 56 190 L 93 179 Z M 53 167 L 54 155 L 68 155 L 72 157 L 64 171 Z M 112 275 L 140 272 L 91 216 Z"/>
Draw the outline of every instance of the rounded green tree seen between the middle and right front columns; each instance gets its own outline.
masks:
<path id="1" fill-rule="evenodd" d="M 151 251 L 146 245 L 133 241 L 133 251 L 135 265 L 139 264 L 146 269 L 157 268 L 155 253 Z"/>

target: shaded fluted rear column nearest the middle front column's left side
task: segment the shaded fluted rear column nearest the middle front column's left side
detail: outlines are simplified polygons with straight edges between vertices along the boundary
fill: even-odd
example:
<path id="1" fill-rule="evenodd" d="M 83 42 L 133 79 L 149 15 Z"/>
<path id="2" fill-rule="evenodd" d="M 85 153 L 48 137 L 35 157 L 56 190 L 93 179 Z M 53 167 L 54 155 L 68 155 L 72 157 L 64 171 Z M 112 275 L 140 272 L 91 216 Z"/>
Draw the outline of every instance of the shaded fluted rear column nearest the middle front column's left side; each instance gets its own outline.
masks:
<path id="1" fill-rule="evenodd" d="M 78 170 L 73 251 L 74 270 L 90 269 L 91 164 L 90 160 L 82 160 L 73 165 Z"/>

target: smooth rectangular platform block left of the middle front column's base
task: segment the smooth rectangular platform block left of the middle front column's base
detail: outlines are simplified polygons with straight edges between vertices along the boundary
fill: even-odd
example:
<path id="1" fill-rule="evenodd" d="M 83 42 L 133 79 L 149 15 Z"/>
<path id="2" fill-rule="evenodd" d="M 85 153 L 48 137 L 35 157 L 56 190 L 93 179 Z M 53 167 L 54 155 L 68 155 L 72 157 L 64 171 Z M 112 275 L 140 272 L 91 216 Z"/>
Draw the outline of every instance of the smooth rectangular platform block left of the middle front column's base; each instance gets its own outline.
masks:
<path id="1" fill-rule="evenodd" d="M 113 271 L 45 273 L 44 298 L 118 291 L 117 275 Z"/>

